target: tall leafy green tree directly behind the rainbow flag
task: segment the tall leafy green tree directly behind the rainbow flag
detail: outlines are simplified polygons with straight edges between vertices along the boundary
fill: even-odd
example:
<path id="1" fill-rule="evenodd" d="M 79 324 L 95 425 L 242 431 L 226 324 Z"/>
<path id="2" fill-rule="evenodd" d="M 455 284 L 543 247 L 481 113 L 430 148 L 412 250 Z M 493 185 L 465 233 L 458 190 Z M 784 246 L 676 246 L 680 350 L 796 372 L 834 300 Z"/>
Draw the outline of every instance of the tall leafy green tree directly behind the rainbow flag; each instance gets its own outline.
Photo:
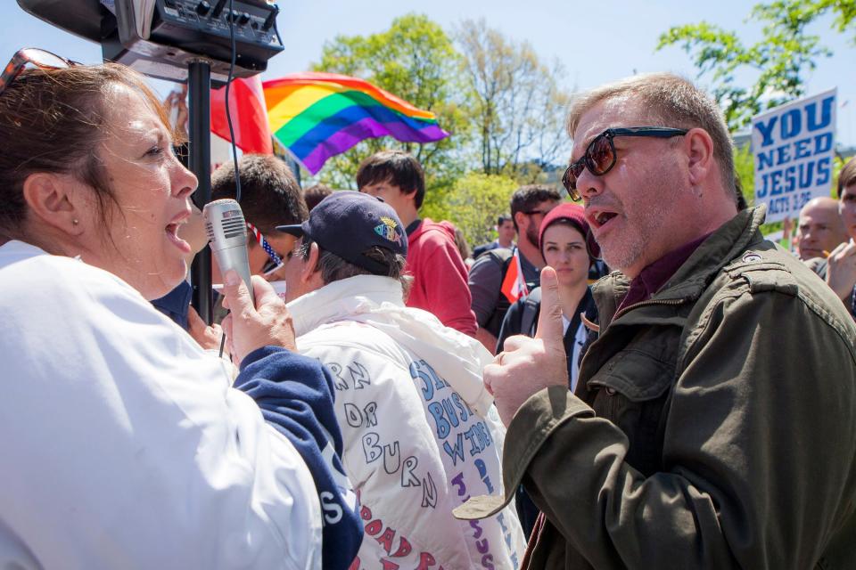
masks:
<path id="1" fill-rule="evenodd" d="M 335 188 L 356 188 L 362 159 L 383 149 L 412 153 L 425 170 L 426 201 L 436 201 L 462 174 L 465 143 L 469 139 L 469 111 L 459 80 L 460 56 L 440 26 L 424 15 L 407 14 L 392 20 L 378 34 L 337 36 L 325 44 L 316 71 L 361 77 L 391 94 L 437 115 L 451 136 L 440 142 L 397 142 L 391 137 L 368 139 L 330 159 L 320 180 Z"/>

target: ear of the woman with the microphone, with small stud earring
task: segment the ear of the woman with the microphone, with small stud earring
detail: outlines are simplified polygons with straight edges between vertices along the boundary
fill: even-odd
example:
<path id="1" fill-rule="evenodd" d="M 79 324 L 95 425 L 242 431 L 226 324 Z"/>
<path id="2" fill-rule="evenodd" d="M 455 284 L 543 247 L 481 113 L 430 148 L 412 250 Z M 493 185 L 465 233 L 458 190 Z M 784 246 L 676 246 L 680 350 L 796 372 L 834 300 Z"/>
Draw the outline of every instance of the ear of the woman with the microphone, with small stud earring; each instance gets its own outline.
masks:
<path id="1" fill-rule="evenodd" d="M 23 197 L 29 210 L 43 223 L 68 233 L 84 231 L 82 185 L 70 175 L 38 172 L 24 181 Z"/>

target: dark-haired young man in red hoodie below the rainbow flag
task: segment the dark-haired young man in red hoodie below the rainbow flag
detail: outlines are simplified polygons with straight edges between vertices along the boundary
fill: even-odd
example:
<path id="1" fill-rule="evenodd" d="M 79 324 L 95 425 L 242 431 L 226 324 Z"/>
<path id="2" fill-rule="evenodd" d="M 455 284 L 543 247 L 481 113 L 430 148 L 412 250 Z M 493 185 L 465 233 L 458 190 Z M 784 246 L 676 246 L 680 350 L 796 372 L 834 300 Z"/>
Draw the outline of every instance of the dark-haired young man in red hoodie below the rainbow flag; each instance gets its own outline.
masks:
<path id="1" fill-rule="evenodd" d="M 455 246 L 455 226 L 419 218 L 425 176 L 407 152 L 381 151 L 363 160 L 357 171 L 359 191 L 379 196 L 407 229 L 407 266 L 414 277 L 407 306 L 424 309 L 452 329 L 475 336 L 478 325 L 470 309 L 466 265 Z"/>

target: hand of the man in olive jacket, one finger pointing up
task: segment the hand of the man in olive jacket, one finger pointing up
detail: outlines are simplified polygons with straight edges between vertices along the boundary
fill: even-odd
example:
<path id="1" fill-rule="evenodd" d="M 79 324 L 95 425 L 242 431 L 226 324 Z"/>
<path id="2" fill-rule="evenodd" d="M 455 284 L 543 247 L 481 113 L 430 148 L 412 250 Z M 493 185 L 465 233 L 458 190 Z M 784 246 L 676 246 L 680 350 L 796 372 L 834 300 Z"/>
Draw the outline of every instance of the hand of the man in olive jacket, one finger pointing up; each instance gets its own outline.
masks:
<path id="1" fill-rule="evenodd" d="M 568 386 L 562 304 L 556 271 L 541 271 L 541 310 L 535 338 L 506 339 L 506 349 L 484 367 L 484 383 L 495 399 L 506 427 L 531 395 L 549 386 Z"/>

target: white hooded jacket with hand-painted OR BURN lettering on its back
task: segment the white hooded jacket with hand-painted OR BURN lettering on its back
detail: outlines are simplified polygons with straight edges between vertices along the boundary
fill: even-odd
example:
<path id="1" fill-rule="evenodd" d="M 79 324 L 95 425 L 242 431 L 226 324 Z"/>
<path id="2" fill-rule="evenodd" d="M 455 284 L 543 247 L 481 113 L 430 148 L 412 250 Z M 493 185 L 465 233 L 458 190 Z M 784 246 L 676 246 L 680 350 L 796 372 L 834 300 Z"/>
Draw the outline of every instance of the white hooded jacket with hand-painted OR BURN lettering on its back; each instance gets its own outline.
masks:
<path id="1" fill-rule="evenodd" d="M 337 378 L 344 467 L 366 528 L 358 567 L 519 566 L 526 545 L 513 505 L 480 521 L 451 513 L 471 495 L 503 492 L 505 428 L 481 381 L 490 354 L 405 307 L 387 277 L 335 281 L 289 310 L 300 352 Z"/>

